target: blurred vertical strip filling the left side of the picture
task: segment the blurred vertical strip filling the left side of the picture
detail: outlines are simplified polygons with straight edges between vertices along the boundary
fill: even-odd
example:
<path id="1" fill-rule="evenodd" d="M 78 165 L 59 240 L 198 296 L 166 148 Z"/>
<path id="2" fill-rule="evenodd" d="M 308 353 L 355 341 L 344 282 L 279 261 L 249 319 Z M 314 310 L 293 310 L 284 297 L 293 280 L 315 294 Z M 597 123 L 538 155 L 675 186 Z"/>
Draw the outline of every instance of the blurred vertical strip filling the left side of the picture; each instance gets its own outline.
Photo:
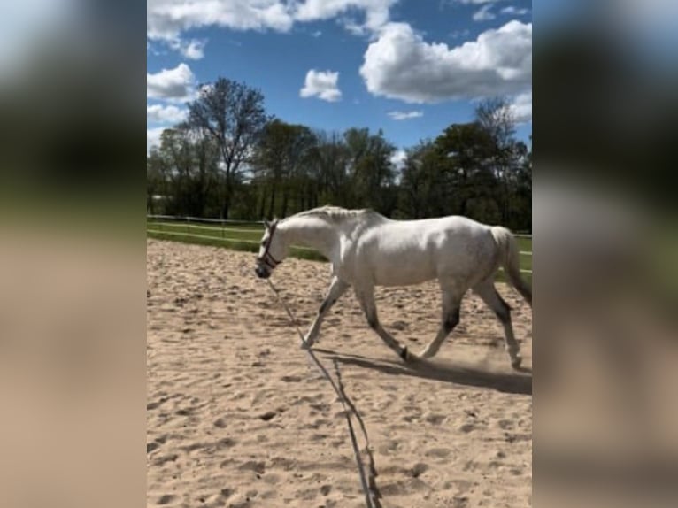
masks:
<path id="1" fill-rule="evenodd" d="M 0 505 L 145 502 L 146 4 L 0 6 Z"/>

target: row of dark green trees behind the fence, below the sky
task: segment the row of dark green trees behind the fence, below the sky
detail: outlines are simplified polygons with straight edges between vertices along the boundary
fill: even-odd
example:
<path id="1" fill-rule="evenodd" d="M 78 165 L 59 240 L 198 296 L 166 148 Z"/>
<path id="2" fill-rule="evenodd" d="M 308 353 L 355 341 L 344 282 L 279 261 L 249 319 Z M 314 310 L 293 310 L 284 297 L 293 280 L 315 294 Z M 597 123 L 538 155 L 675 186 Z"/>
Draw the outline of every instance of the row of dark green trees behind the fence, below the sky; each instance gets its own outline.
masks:
<path id="1" fill-rule="evenodd" d="M 516 139 L 505 99 L 483 101 L 473 121 L 406 150 L 402 167 L 396 151 L 381 130 L 327 132 L 276 119 L 260 91 L 220 78 L 150 150 L 147 211 L 271 219 L 335 204 L 531 230 L 532 151 Z"/>

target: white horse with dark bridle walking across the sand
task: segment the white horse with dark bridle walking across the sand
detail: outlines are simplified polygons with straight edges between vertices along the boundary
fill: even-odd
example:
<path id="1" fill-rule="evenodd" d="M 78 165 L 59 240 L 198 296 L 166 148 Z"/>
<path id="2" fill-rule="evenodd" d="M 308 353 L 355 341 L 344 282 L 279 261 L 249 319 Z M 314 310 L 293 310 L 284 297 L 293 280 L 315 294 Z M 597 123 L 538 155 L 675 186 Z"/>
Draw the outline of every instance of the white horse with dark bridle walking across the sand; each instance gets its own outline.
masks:
<path id="1" fill-rule="evenodd" d="M 438 279 L 443 292 L 440 330 L 421 351 L 430 358 L 459 322 L 459 306 L 468 289 L 482 298 L 504 326 L 505 347 L 513 368 L 520 367 L 520 348 L 513 335 L 511 307 L 494 286 L 498 267 L 532 305 L 532 288 L 520 278 L 519 251 L 505 227 L 485 226 L 466 217 L 391 220 L 371 210 L 325 206 L 287 219 L 266 222 L 256 273 L 270 277 L 288 255 L 291 244 L 319 250 L 332 263 L 332 281 L 311 328 L 304 337 L 310 348 L 327 311 L 351 286 L 367 323 L 407 361 L 414 357 L 379 322 L 375 286 L 405 286 Z"/>

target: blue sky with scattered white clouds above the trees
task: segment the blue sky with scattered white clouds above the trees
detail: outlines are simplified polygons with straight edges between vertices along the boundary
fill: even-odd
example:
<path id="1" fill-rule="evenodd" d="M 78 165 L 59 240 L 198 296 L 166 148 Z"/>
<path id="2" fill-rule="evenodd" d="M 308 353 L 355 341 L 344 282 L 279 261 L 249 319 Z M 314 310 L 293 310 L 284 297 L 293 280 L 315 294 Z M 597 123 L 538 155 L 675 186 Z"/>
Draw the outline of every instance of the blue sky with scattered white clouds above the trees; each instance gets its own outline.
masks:
<path id="1" fill-rule="evenodd" d="M 148 0 L 147 137 L 199 83 L 262 91 L 290 123 L 382 129 L 401 150 L 506 96 L 532 132 L 532 12 L 518 0 Z"/>

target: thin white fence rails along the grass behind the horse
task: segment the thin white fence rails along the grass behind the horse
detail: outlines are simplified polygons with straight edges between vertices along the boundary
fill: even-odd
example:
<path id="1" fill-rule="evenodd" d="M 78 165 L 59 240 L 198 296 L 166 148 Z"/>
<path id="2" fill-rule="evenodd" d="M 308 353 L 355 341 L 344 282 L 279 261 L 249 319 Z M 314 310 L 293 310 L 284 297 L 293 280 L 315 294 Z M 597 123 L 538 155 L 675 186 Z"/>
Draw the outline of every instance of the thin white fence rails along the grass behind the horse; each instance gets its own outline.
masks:
<path id="1" fill-rule="evenodd" d="M 193 238 L 204 238 L 206 240 L 223 240 L 224 242 L 239 242 L 249 245 L 258 245 L 258 241 L 247 240 L 244 238 L 235 238 L 233 236 L 227 236 L 227 233 L 261 233 L 261 229 L 243 229 L 242 227 L 227 227 L 227 225 L 232 224 L 261 224 L 263 226 L 264 222 L 262 220 L 234 220 L 234 219 L 206 219 L 203 217 L 179 217 L 174 215 L 146 215 L 147 222 L 149 220 L 156 220 L 153 228 L 149 228 L 148 224 L 146 226 L 147 233 L 155 233 L 157 235 L 175 235 L 175 236 L 190 236 Z M 168 226 L 171 227 L 186 227 L 185 231 L 169 231 L 163 229 L 163 222 L 168 222 Z M 205 226 L 204 224 L 208 225 Z M 219 224 L 220 226 L 215 226 Z M 194 230 L 197 233 L 194 233 Z M 220 231 L 221 237 L 214 235 L 200 235 L 200 230 L 207 231 Z M 516 238 L 529 238 L 532 240 L 532 235 L 519 234 L 514 235 Z M 313 249 L 308 249 L 307 247 L 295 246 L 295 249 L 305 250 L 307 252 L 314 251 Z M 520 256 L 529 256 L 532 257 L 531 250 L 520 250 Z M 532 270 L 520 269 L 521 273 L 532 274 Z"/>

